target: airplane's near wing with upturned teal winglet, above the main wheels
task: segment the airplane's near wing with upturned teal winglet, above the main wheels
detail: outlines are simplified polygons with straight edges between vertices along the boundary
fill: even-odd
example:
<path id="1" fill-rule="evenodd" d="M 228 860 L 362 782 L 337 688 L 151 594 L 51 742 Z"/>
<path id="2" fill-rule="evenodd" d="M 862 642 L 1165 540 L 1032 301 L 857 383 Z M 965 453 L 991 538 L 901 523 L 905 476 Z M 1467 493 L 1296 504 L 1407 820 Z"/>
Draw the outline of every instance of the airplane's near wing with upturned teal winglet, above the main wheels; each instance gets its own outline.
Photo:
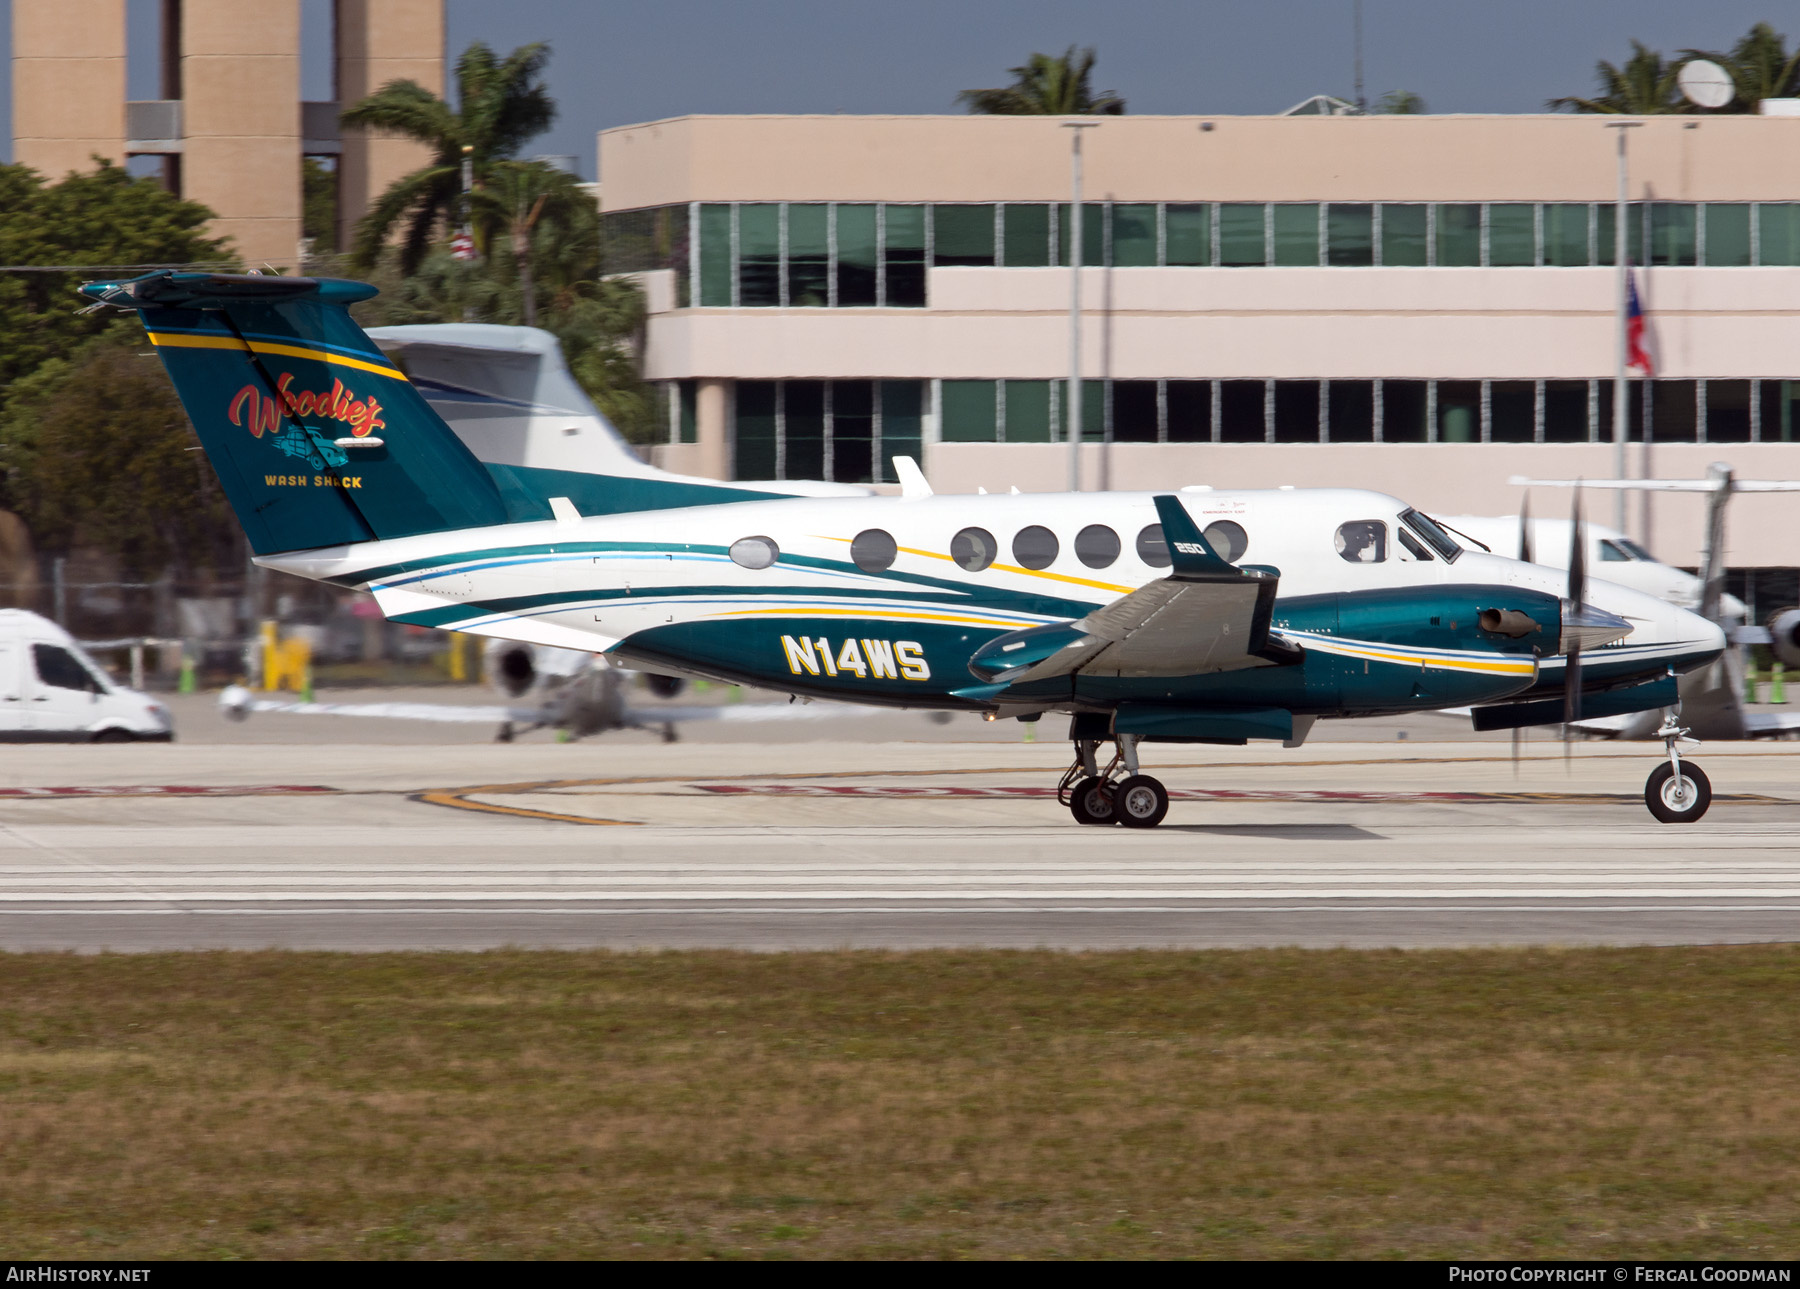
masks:
<path id="1" fill-rule="evenodd" d="M 1172 567 L 1085 617 L 985 644 L 977 675 L 1006 684 L 1058 675 L 1206 675 L 1300 659 L 1269 634 L 1280 578 L 1213 553 L 1175 497 L 1156 499 Z M 1010 655 L 1019 666 L 1008 666 Z"/>

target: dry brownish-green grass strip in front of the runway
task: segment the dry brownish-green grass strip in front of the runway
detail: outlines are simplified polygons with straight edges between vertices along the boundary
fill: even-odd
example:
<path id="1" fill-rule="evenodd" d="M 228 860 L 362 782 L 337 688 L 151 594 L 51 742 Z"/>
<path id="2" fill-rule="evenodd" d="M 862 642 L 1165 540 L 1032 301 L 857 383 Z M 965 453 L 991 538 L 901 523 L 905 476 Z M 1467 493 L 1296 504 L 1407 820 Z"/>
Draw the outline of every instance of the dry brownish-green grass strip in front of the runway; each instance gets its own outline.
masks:
<path id="1" fill-rule="evenodd" d="M 0 956 L 0 1253 L 1800 1253 L 1800 949 Z"/>

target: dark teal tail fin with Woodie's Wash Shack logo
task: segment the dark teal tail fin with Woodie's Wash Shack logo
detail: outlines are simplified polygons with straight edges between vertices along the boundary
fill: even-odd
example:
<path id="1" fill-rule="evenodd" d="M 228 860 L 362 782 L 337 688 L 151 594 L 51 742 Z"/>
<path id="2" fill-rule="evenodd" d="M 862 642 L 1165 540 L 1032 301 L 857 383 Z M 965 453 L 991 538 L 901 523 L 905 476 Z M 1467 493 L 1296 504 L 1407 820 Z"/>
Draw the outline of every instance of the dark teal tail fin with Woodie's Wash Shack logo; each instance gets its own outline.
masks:
<path id="1" fill-rule="evenodd" d="M 508 522 L 488 470 L 349 315 L 364 283 L 153 272 L 137 310 L 256 554 Z"/>

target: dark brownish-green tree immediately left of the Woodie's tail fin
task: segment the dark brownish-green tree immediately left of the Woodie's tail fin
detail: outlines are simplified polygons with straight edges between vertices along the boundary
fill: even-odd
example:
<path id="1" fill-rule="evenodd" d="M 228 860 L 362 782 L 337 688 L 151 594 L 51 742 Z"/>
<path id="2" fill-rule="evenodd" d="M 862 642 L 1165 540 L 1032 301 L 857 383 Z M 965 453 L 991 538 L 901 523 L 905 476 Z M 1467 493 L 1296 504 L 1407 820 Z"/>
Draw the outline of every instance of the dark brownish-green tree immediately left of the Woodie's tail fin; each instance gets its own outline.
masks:
<path id="1" fill-rule="evenodd" d="M 131 576 L 241 565 L 238 520 L 142 324 L 104 326 L 13 387 L 7 504 L 38 549 L 112 551 Z"/>

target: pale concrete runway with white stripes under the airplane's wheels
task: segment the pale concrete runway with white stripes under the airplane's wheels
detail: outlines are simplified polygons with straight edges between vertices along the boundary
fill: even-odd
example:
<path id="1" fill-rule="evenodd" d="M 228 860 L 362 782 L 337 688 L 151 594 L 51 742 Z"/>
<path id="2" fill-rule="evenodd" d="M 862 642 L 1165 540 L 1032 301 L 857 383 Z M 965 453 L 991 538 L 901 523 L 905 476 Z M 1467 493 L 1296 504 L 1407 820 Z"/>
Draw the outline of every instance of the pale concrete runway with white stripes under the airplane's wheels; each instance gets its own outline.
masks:
<path id="1" fill-rule="evenodd" d="M 0 949 L 1127 947 L 1800 938 L 1800 754 L 1163 747 L 1154 832 L 1058 808 L 1060 744 L 31 747 Z"/>

